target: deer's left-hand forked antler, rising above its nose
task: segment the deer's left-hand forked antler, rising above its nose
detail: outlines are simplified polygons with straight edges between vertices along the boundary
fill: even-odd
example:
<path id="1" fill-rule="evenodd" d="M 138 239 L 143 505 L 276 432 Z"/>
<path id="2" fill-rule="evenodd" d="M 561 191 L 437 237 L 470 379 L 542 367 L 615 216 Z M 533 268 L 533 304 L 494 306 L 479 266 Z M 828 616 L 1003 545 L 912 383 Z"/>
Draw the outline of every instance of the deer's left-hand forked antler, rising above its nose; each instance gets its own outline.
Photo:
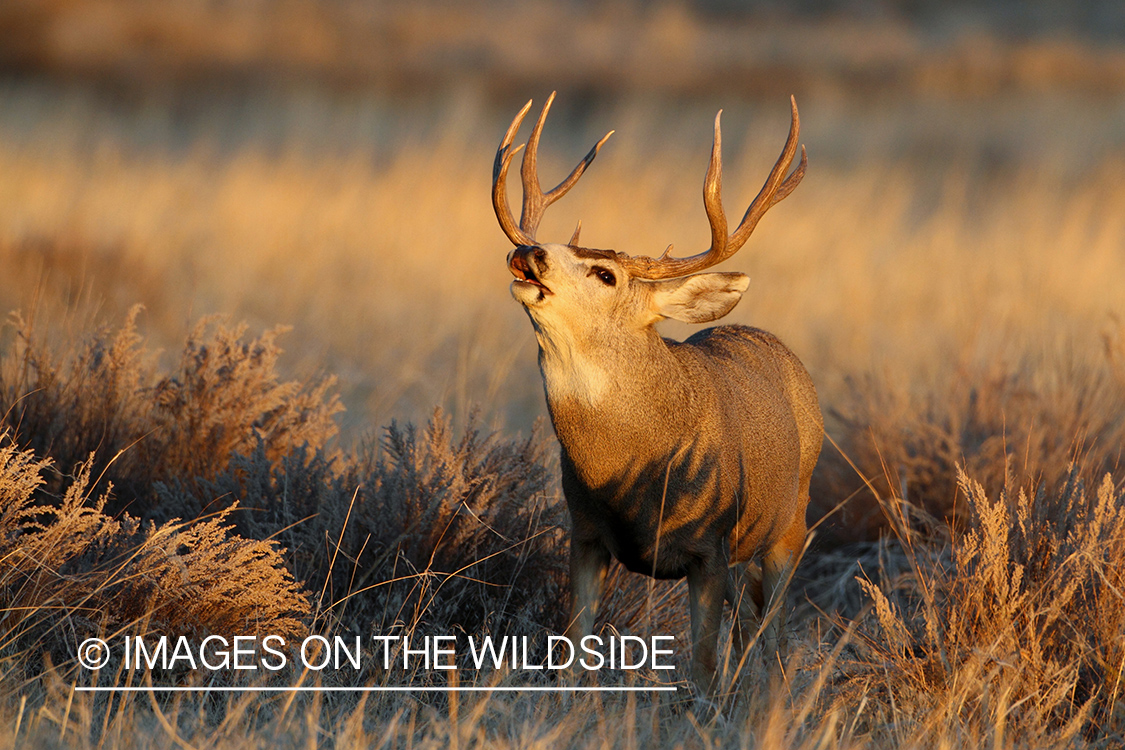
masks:
<path id="1" fill-rule="evenodd" d="M 528 150 L 523 153 L 523 164 L 520 166 L 520 178 L 523 181 L 523 211 L 520 215 L 519 226 L 516 226 L 515 218 L 512 216 L 512 208 L 507 204 L 505 182 L 507 180 L 507 168 L 512 163 L 512 157 L 522 148 L 522 146 L 513 148 L 512 139 L 515 138 L 516 132 L 523 124 L 523 118 L 528 115 L 528 110 L 531 109 L 531 101 L 528 101 L 523 106 L 523 109 L 515 116 L 515 119 L 512 120 L 507 133 L 504 134 L 504 139 L 500 143 L 500 148 L 496 150 L 496 161 L 493 163 L 493 209 L 496 211 L 496 218 L 500 219 L 501 228 L 504 229 L 504 234 L 507 235 L 507 238 L 514 245 L 536 244 L 536 231 L 539 228 L 539 222 L 543 218 L 543 211 L 575 186 L 578 178 L 590 166 L 590 163 L 594 161 L 594 156 L 597 155 L 601 147 L 613 135 L 613 130 L 606 133 L 601 141 L 594 144 L 594 147 L 590 150 L 585 159 L 578 162 L 578 165 L 574 168 L 574 171 L 565 180 L 544 193 L 542 187 L 539 184 L 539 136 L 543 132 L 543 124 L 547 121 L 547 112 L 550 111 L 552 101 L 555 101 L 554 91 L 548 97 L 547 103 L 543 105 L 543 110 L 539 114 L 536 127 L 531 129 L 531 137 L 528 138 Z M 577 242 L 578 229 L 575 229 L 574 236 L 570 237 L 570 244 Z"/>

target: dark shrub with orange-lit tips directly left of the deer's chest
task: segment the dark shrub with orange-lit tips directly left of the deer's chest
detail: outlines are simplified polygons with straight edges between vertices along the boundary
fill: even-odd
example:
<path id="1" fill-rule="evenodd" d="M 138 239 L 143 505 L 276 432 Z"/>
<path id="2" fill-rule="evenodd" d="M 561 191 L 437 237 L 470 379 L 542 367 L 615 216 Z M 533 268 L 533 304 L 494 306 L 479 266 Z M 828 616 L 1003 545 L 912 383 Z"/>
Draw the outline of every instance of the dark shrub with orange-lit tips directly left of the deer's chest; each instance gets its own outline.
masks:
<path id="1" fill-rule="evenodd" d="M 356 517 L 371 580 L 403 579 L 382 594 L 385 617 L 468 632 L 557 620 L 562 514 L 544 450 L 538 432 L 504 441 L 471 422 L 457 439 L 440 413 L 422 431 L 392 423 L 360 464 Z"/>

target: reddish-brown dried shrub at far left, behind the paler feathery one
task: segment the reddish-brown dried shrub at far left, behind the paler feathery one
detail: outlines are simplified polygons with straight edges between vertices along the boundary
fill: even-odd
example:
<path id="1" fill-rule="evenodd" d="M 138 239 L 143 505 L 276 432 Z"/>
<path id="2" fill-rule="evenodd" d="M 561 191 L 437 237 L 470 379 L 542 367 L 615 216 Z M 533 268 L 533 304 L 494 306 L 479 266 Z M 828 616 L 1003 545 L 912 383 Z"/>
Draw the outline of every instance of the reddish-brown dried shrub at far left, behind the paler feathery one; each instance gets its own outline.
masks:
<path id="1" fill-rule="evenodd" d="M 332 379 L 280 381 L 282 328 L 245 341 L 244 325 L 204 319 L 178 367 L 162 376 L 136 332 L 138 314 L 135 307 L 119 329 L 101 327 L 62 353 L 14 319 L 15 346 L 0 367 L 0 412 L 21 446 L 63 467 L 92 455 L 94 489 L 112 484 L 132 513 L 168 519 L 186 514 L 156 503 L 155 482 L 214 478 L 232 455 L 259 444 L 277 462 L 335 434 L 333 416 L 342 406 Z M 48 488 L 57 494 L 61 481 L 56 476 Z M 120 507 L 110 500 L 110 510 Z"/>

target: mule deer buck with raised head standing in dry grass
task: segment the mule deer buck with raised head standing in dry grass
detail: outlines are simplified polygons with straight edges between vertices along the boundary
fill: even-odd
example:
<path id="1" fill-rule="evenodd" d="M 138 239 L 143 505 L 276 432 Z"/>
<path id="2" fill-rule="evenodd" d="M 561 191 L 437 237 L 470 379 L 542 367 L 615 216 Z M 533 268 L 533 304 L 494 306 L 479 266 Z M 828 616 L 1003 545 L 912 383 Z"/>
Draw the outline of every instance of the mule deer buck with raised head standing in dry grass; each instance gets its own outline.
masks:
<path id="1" fill-rule="evenodd" d="M 758 219 L 796 188 L 807 159 L 796 153 L 795 100 L 781 157 L 738 227 L 728 235 L 722 209 L 719 115 L 703 205 L 711 247 L 690 257 L 627 255 L 570 241 L 536 240 L 543 210 L 578 181 L 612 135 L 606 134 L 554 190 L 543 192 L 537 152 L 555 94 L 528 139 L 520 170 L 523 211 L 512 216 L 505 180 L 519 147 L 512 141 L 531 107 L 508 127 L 493 169 L 493 207 L 515 245 L 507 257 L 512 296 L 531 318 L 547 406 L 561 444 L 562 489 L 573 521 L 570 625 L 576 643 L 593 631 L 610 557 L 655 578 L 687 577 L 692 679 L 714 689 L 723 600 L 736 609 L 740 587 L 731 566 L 760 558 L 752 597 L 776 649 L 785 584 L 804 537 L 809 479 L 824 422 L 804 367 L 775 336 L 745 326 L 708 328 L 686 341 L 663 338 L 663 318 L 706 323 L 738 304 L 749 279 L 700 273 L 734 255 Z M 747 576 L 747 578 L 752 578 Z"/>

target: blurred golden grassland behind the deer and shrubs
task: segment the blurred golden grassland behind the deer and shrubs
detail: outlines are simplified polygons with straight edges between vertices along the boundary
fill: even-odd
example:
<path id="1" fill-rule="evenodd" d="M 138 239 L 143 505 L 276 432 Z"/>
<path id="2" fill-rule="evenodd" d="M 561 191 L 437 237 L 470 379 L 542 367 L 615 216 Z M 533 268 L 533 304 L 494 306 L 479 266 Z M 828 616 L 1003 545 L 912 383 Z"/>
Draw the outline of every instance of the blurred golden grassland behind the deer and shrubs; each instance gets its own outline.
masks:
<path id="1" fill-rule="evenodd" d="M 633 254 L 705 246 L 716 110 L 735 215 L 796 97 L 808 177 L 726 264 L 752 278 L 728 319 L 794 349 L 830 434 L 958 378 L 1053 394 L 1118 341 L 1119 0 L 2 0 L 0 308 L 78 338 L 141 302 L 169 351 L 210 314 L 291 326 L 344 443 L 439 405 L 525 432 L 490 169 L 552 90 L 544 182 L 616 134 L 540 238 L 580 218 Z"/>

